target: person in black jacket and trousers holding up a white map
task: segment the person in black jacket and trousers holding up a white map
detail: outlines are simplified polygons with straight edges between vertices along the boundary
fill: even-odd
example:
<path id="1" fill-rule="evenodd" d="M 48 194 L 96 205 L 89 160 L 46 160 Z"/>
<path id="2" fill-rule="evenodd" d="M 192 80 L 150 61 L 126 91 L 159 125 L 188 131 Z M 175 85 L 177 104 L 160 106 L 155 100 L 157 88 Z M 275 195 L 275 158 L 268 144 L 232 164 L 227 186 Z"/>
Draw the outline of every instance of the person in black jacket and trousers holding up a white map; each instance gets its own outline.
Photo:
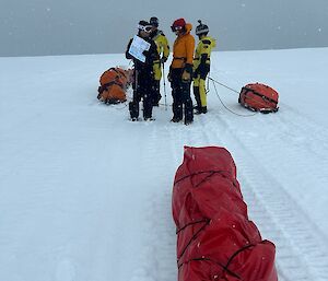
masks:
<path id="1" fill-rule="evenodd" d="M 133 99 L 129 104 L 129 110 L 132 121 L 138 120 L 139 103 L 141 98 L 143 103 L 143 119 L 152 120 L 152 92 L 154 80 L 153 62 L 154 60 L 159 60 L 160 56 L 157 52 L 156 44 L 149 38 L 151 32 L 152 26 L 150 25 L 150 23 L 145 21 L 139 22 L 138 36 L 150 44 L 150 48 L 142 52 L 145 57 L 144 61 L 137 59 L 129 52 L 133 38 L 130 39 L 126 51 L 126 58 L 132 59 L 134 63 L 134 83 L 132 84 Z"/>

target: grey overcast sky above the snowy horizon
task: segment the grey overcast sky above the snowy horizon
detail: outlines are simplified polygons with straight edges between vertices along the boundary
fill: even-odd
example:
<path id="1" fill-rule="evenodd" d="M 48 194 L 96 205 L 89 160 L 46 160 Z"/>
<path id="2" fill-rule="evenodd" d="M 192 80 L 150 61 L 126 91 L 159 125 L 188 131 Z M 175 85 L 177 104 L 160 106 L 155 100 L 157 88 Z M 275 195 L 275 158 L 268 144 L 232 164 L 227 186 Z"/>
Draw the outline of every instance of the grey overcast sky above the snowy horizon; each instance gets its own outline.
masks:
<path id="1" fill-rule="evenodd" d="M 216 50 L 328 46 L 328 0 L 0 0 L 0 56 L 124 52 L 139 20 L 201 19 Z"/>

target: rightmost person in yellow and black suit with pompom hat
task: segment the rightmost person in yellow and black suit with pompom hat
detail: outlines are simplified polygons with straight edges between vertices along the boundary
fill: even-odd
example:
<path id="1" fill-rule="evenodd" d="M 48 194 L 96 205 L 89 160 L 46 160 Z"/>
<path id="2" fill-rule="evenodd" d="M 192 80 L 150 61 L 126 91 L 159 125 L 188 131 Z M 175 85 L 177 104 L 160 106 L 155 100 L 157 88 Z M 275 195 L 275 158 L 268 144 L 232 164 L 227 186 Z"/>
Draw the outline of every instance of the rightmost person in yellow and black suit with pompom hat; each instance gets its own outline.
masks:
<path id="1" fill-rule="evenodd" d="M 196 35 L 199 38 L 194 58 L 194 95 L 197 103 L 195 114 L 206 114 L 207 107 L 207 91 L 206 79 L 210 72 L 211 51 L 216 46 L 215 39 L 208 36 L 209 27 L 198 21 L 199 25 L 196 27 Z"/>

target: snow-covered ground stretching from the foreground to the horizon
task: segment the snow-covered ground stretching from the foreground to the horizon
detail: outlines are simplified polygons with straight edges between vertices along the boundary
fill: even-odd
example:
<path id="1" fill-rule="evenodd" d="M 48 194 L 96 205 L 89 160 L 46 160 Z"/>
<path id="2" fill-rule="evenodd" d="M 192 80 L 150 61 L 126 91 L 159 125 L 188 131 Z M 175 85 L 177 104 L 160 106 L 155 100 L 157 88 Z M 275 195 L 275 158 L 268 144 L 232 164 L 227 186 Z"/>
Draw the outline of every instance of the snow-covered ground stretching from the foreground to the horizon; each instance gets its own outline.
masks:
<path id="1" fill-rule="evenodd" d="M 163 105 L 131 122 L 126 105 L 99 104 L 98 78 L 118 65 L 0 58 L 0 280 L 176 280 L 171 191 L 186 144 L 232 153 L 280 280 L 327 281 L 328 48 L 213 54 L 213 79 L 266 83 L 280 110 L 253 115 L 210 83 L 209 113 L 188 127 Z"/>

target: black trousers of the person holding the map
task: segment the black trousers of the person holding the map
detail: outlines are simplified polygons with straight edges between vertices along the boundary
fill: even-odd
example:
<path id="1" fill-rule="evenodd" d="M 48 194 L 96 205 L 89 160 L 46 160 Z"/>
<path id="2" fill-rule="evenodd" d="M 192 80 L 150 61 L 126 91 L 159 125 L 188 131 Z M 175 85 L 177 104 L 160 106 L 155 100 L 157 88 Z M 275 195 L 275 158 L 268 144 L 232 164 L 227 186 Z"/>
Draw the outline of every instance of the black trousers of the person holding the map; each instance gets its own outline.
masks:
<path id="1" fill-rule="evenodd" d="M 148 119 L 152 117 L 153 112 L 153 77 L 149 71 L 136 71 L 136 79 L 132 84 L 133 98 L 129 104 L 129 110 L 131 118 L 139 117 L 139 104 L 142 99 L 143 105 L 143 118 Z"/>

